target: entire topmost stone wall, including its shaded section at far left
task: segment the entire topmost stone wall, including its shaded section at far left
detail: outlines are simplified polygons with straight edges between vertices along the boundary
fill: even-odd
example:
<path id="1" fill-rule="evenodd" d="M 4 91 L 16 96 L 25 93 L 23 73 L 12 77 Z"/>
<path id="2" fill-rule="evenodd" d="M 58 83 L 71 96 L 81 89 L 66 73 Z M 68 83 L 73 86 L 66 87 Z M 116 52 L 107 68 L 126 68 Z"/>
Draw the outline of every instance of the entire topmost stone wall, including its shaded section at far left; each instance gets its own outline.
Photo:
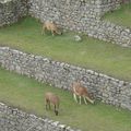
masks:
<path id="1" fill-rule="evenodd" d="M 59 26 L 88 36 L 131 47 L 131 28 L 100 21 L 108 11 L 119 9 L 122 0 L 2 0 L 0 26 L 12 24 L 27 14 L 41 22 L 55 21 Z"/>

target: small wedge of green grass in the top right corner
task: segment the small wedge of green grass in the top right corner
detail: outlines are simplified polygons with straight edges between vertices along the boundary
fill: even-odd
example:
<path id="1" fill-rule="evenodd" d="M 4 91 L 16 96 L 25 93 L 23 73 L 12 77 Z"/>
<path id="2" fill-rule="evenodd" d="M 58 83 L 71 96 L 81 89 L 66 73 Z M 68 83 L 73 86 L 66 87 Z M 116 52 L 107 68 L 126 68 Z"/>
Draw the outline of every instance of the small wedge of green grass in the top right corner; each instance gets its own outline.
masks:
<path id="1" fill-rule="evenodd" d="M 107 13 L 104 20 L 131 28 L 131 3 L 123 4 L 119 10 Z"/>

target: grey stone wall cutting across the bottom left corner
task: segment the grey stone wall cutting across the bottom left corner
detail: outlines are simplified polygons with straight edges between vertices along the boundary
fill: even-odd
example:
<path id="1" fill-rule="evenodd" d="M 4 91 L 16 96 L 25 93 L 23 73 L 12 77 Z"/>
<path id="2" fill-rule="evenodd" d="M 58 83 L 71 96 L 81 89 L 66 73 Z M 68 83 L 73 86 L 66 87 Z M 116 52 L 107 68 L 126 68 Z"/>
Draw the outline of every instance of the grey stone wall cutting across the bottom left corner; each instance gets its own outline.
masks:
<path id="1" fill-rule="evenodd" d="M 81 131 L 0 103 L 0 131 Z"/>

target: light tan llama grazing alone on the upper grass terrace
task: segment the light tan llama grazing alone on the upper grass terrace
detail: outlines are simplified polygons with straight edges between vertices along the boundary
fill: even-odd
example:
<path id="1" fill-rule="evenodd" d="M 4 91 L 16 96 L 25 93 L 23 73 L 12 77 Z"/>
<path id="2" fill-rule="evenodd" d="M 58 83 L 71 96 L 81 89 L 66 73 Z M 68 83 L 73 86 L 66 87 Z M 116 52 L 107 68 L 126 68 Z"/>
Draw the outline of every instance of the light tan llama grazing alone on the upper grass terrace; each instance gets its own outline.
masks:
<path id="1" fill-rule="evenodd" d="M 41 28 L 41 35 L 45 34 L 45 32 L 47 31 L 50 31 L 52 36 L 55 36 L 55 34 L 58 34 L 58 35 L 61 35 L 62 33 L 58 29 L 57 25 L 53 23 L 53 22 L 49 22 L 49 21 L 46 21 L 44 24 L 43 24 L 43 28 Z"/>

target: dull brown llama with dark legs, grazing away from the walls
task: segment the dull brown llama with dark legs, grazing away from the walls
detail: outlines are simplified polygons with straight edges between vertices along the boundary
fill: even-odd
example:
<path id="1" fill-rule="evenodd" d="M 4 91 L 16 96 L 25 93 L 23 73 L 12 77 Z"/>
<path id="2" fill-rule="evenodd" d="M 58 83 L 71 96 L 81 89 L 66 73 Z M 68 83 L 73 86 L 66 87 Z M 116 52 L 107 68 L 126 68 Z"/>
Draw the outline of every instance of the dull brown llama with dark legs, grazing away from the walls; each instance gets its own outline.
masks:
<path id="1" fill-rule="evenodd" d="M 50 92 L 45 94 L 46 109 L 50 109 L 50 104 L 55 106 L 55 114 L 58 116 L 59 97 Z"/>

